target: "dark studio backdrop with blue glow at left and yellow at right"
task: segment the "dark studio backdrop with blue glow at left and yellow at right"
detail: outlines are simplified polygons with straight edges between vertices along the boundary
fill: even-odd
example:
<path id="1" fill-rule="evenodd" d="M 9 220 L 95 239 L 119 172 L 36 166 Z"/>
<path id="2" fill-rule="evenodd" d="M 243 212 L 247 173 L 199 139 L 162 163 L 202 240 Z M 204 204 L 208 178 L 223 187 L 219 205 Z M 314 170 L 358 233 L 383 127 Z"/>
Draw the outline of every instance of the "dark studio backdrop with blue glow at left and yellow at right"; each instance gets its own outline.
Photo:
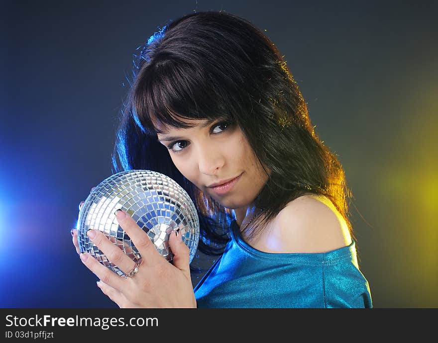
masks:
<path id="1" fill-rule="evenodd" d="M 436 1 L 1 1 L 0 307 L 116 307 L 71 243 L 132 54 L 224 10 L 277 45 L 346 172 L 374 307 L 438 307 Z M 197 282 L 194 276 L 194 283 Z"/>

